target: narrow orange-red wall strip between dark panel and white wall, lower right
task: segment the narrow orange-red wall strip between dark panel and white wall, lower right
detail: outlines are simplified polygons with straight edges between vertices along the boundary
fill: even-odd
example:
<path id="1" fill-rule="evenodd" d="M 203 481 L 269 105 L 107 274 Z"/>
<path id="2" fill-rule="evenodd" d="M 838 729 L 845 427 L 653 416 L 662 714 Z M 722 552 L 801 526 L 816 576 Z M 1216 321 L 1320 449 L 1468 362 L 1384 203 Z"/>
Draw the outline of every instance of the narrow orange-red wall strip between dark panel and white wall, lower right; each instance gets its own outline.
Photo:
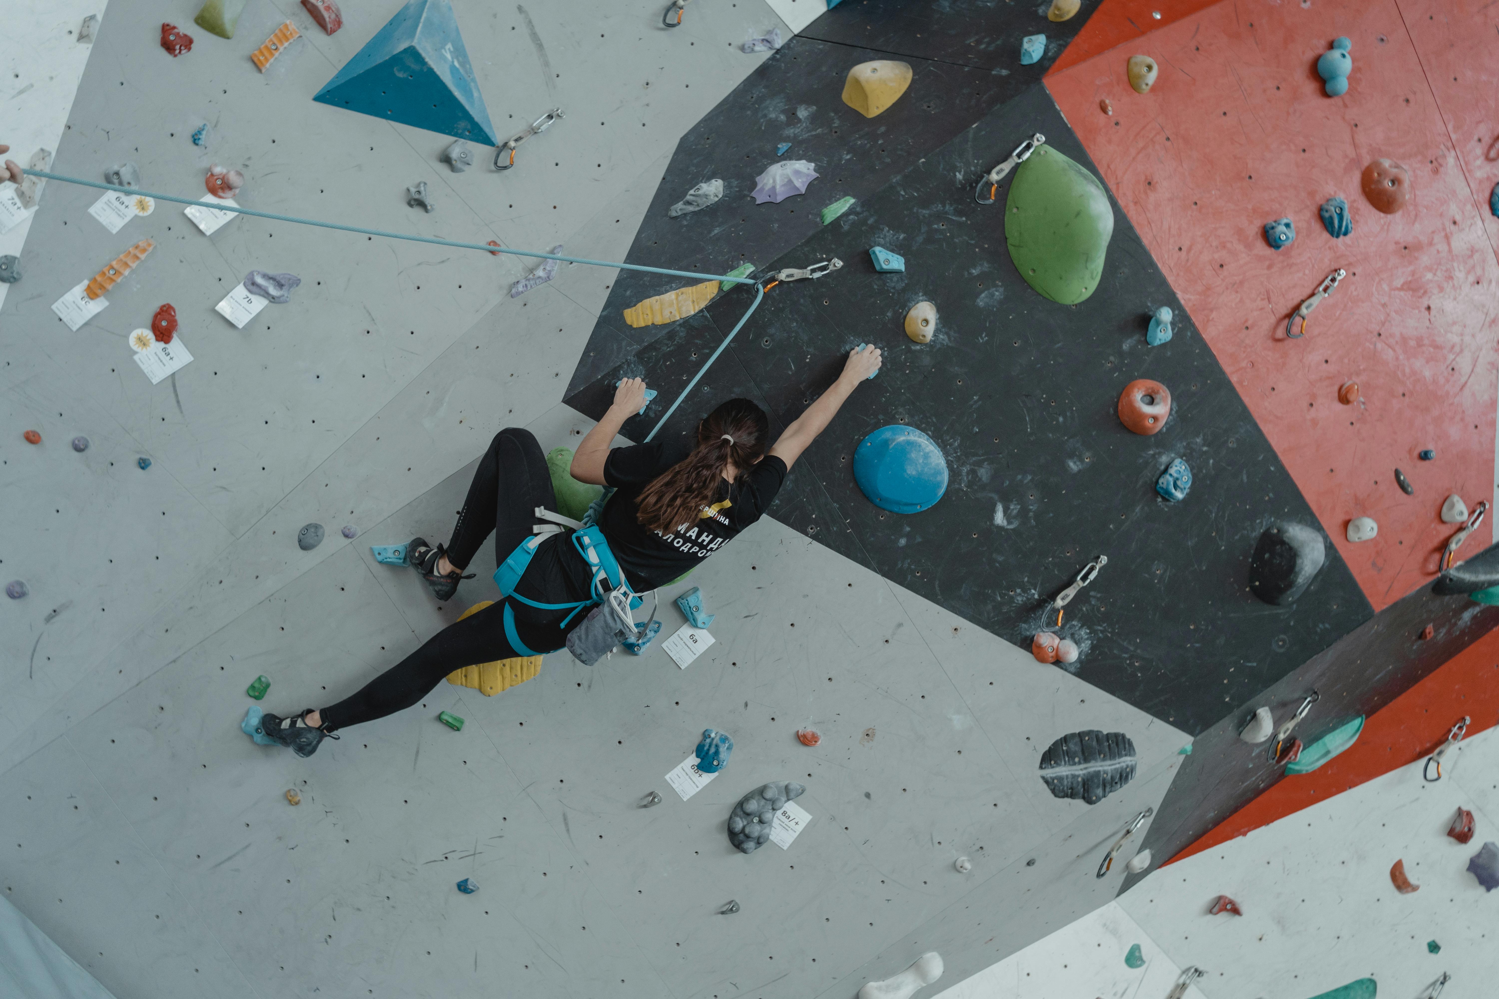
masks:
<path id="1" fill-rule="evenodd" d="M 1499 717 L 1499 631 L 1489 632 L 1436 672 L 1370 714 L 1358 741 L 1340 756 L 1312 773 L 1283 777 L 1171 860 L 1177 861 L 1211 849 L 1397 767 L 1430 756 L 1465 714 L 1474 719 L 1468 726 L 1469 735 L 1490 728 Z"/>

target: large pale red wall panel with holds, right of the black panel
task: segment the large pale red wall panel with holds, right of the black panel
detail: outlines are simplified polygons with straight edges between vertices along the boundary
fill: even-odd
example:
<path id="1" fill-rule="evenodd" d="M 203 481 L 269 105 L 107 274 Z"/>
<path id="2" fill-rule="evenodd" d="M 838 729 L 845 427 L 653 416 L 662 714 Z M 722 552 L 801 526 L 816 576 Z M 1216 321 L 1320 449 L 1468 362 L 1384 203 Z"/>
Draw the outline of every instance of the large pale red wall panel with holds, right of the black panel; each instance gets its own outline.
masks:
<path id="1" fill-rule="evenodd" d="M 1444 30 L 1493 37 L 1471 54 L 1493 73 L 1487 22 Z M 1340 34 L 1352 85 L 1328 97 L 1315 63 Z M 1148 94 L 1126 81 L 1135 51 L 1160 64 Z M 1442 500 L 1493 496 L 1499 262 L 1396 3 L 1220 3 L 1046 82 L 1375 608 L 1430 581 L 1453 533 Z M 1399 214 L 1360 192 L 1376 157 L 1411 169 Z M 1333 195 L 1351 207 L 1343 240 L 1318 220 Z M 1297 241 L 1276 252 L 1262 226 L 1283 216 Z M 1348 280 L 1286 340 L 1286 318 L 1339 267 Z M 1363 398 L 1342 406 L 1349 379 Z M 1345 539 L 1358 515 L 1379 523 L 1375 541 Z"/>

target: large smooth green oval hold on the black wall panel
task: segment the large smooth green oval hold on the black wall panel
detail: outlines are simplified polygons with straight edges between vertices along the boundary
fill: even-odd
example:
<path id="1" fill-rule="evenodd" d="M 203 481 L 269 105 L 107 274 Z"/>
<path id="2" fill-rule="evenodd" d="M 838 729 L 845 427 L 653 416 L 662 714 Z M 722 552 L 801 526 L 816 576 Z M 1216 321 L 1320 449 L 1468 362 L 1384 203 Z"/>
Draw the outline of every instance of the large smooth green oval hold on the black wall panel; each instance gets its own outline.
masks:
<path id="1" fill-rule="evenodd" d="M 1049 145 L 1019 165 L 1004 205 L 1004 240 L 1025 283 L 1073 306 L 1099 286 L 1114 208 L 1099 178 Z"/>

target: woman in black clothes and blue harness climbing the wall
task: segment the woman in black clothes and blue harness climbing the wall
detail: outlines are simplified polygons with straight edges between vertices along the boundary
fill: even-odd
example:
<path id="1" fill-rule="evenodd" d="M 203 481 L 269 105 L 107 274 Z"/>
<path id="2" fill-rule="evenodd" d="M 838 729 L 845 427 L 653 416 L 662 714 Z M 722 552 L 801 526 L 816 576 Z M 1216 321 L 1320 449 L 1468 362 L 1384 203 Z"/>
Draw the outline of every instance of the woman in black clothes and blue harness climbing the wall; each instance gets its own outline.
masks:
<path id="1" fill-rule="evenodd" d="M 616 490 L 598 527 L 630 587 L 648 593 L 676 580 L 760 520 L 796 458 L 853 389 L 878 370 L 878 349 L 850 350 L 838 380 L 785 428 L 769 452 L 770 421 L 747 398 L 732 398 L 708 413 L 697 425 L 697 446 L 690 454 L 660 442 L 612 449 L 609 443 L 619 428 L 646 401 L 642 379 L 622 380 L 609 412 L 579 445 L 571 472 L 583 482 Z M 433 595 L 450 601 L 459 581 L 472 578 L 463 569 L 490 532 L 495 532 L 496 562 L 520 553 L 534 536 L 538 506 L 556 509 L 541 445 L 529 430 L 501 430 L 480 458 L 448 545 L 432 547 L 414 538 L 406 557 Z M 562 649 L 567 635 L 598 602 L 595 571 L 573 535 L 571 530 L 546 535 L 511 596 L 448 625 L 337 704 L 291 717 L 265 714 L 264 734 L 298 756 L 310 756 L 324 738 L 337 738 L 336 729 L 417 704 L 454 669 Z"/>

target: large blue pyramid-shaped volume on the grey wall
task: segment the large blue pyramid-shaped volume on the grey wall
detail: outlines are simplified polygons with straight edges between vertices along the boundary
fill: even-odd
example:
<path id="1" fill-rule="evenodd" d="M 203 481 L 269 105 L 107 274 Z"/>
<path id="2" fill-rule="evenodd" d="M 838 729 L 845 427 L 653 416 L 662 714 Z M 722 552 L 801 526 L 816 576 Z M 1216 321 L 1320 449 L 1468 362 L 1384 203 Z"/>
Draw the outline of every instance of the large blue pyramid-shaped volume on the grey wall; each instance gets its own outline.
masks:
<path id="1" fill-rule="evenodd" d="M 313 100 L 499 144 L 448 0 L 411 0 Z"/>

